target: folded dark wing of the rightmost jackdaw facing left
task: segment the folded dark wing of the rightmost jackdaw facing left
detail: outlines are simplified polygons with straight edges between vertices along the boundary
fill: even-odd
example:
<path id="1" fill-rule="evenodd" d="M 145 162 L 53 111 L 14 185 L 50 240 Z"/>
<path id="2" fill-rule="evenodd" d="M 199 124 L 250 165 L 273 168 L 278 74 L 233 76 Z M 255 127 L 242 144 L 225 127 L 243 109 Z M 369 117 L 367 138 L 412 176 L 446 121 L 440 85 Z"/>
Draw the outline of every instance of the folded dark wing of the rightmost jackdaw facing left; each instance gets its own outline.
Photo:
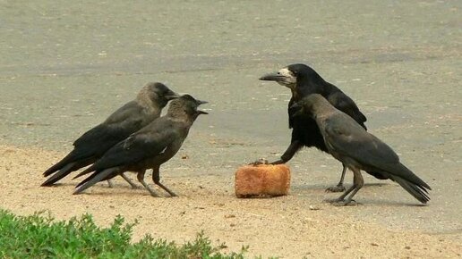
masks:
<path id="1" fill-rule="evenodd" d="M 325 121 L 326 145 L 340 155 L 355 159 L 370 168 L 398 176 L 416 185 L 430 188 L 399 162 L 398 155 L 379 138 L 368 133 L 345 113 L 335 113 Z"/>

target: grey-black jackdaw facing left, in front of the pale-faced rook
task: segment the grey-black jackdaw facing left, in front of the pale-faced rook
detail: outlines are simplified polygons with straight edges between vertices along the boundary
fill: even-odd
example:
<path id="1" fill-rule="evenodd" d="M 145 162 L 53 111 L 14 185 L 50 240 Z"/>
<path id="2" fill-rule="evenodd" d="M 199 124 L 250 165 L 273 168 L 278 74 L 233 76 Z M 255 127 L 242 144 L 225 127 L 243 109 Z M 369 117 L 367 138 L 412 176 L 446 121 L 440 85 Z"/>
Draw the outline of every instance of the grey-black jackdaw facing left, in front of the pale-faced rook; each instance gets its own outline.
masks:
<path id="1" fill-rule="evenodd" d="M 430 200 L 428 190 L 432 188 L 400 163 L 391 147 L 367 132 L 346 113 L 336 109 L 323 96 L 306 96 L 292 108 L 298 109 L 295 117 L 297 114 L 312 116 L 321 130 L 329 154 L 353 171 L 353 186 L 335 200 L 335 205 L 348 205 L 363 187 L 360 170 L 380 172 L 387 179 L 398 182 L 423 204 Z"/>

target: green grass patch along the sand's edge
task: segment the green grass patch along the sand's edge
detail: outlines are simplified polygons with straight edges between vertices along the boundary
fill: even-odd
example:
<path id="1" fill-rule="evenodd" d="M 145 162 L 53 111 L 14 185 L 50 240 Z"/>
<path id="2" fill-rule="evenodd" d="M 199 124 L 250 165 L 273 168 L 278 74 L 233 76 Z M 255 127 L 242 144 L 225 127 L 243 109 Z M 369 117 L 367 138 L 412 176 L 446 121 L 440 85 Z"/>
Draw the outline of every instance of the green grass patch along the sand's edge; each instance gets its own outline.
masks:
<path id="1" fill-rule="evenodd" d="M 221 254 L 226 246 L 211 246 L 203 233 L 181 246 L 150 235 L 131 243 L 134 225 L 121 216 L 99 228 L 90 214 L 55 221 L 47 213 L 17 216 L 0 210 L 0 258 L 244 258 L 246 251 Z"/>

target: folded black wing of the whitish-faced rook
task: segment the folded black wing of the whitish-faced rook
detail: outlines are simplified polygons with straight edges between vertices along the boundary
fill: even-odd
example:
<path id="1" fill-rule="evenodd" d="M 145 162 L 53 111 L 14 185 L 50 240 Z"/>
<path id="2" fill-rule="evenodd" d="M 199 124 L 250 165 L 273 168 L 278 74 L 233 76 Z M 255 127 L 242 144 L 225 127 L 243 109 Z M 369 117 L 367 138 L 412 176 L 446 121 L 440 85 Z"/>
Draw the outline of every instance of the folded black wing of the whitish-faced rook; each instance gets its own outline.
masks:
<path id="1" fill-rule="evenodd" d="M 330 94 L 327 99 L 330 104 L 334 105 L 338 110 L 347 113 L 351 118 L 358 122 L 361 127 L 366 129 L 364 122 L 367 121 L 367 118 L 364 113 L 359 111 L 358 106 L 349 96 L 341 91 L 338 91 Z"/>

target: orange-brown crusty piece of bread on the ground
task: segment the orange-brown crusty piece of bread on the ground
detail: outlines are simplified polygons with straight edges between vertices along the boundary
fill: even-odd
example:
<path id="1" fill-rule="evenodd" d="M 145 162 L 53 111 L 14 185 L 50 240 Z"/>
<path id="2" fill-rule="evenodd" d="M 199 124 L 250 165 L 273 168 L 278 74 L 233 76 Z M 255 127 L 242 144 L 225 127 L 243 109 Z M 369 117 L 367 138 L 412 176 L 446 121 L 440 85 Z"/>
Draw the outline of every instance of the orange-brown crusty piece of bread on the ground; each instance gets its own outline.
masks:
<path id="1" fill-rule="evenodd" d="M 235 171 L 235 196 L 285 196 L 290 188 L 286 164 L 245 165 Z"/>

